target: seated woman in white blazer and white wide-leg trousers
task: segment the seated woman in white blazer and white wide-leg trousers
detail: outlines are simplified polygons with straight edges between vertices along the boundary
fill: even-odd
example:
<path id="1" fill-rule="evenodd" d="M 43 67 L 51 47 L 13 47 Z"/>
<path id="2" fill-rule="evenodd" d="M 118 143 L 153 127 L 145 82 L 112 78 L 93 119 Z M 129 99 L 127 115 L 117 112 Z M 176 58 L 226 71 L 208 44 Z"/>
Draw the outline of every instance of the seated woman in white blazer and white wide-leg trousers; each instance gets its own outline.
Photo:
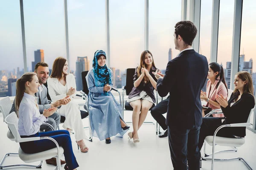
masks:
<path id="1" fill-rule="evenodd" d="M 73 101 L 73 96 L 76 96 L 76 80 L 73 74 L 67 74 L 68 63 L 67 59 L 58 57 L 52 65 L 52 74 L 49 77 L 48 92 L 52 101 L 57 101 L 65 96 L 70 96 L 71 101 L 58 110 L 61 116 L 65 116 L 66 120 L 63 128 L 69 132 L 75 130 L 76 143 L 80 147 L 81 152 L 87 152 L 88 147 L 84 144 L 86 135 L 81 119 L 79 105 Z"/>

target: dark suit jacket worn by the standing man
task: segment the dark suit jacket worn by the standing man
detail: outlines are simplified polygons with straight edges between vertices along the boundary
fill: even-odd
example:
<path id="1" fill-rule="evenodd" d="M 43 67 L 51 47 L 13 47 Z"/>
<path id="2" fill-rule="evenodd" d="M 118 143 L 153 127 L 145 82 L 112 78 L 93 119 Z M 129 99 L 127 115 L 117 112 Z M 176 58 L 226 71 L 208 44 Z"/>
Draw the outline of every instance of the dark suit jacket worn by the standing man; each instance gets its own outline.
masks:
<path id="1" fill-rule="evenodd" d="M 163 97 L 170 93 L 166 125 L 185 129 L 201 126 L 200 94 L 208 70 L 206 57 L 193 49 L 168 62 L 165 76 L 157 80 L 158 94 Z"/>

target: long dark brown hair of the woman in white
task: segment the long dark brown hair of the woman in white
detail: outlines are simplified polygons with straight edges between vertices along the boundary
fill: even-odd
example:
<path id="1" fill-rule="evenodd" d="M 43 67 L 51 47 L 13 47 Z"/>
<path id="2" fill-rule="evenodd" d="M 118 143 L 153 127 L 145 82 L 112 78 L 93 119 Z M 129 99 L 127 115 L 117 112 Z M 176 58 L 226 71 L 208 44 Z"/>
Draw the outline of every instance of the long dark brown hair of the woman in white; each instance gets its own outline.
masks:
<path id="1" fill-rule="evenodd" d="M 62 78 L 62 72 L 63 72 L 63 67 L 66 63 L 67 59 L 63 57 L 58 57 L 54 60 L 53 65 L 52 65 L 52 74 L 51 78 L 57 78 L 58 80 L 61 80 Z M 64 74 L 64 78 L 66 80 L 67 74 Z"/>

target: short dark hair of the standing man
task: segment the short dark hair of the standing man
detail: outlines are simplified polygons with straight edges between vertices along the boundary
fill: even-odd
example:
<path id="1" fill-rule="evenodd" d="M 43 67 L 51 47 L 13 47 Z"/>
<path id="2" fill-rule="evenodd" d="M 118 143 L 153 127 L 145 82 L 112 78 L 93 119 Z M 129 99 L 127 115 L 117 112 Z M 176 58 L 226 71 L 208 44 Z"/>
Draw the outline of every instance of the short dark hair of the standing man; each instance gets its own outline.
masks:
<path id="1" fill-rule="evenodd" d="M 175 25 L 176 39 L 178 38 L 178 35 L 180 35 L 185 42 L 185 45 L 192 45 L 196 34 L 197 28 L 191 21 L 180 21 Z"/>

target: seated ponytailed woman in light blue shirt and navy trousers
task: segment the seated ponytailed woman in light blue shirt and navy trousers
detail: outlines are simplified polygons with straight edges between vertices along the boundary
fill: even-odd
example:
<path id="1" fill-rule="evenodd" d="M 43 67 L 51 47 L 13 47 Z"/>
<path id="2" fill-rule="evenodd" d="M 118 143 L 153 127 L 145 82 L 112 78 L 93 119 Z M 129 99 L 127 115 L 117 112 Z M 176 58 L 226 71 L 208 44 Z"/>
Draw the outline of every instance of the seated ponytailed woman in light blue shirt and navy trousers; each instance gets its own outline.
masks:
<path id="1" fill-rule="evenodd" d="M 57 108 L 44 109 L 40 114 L 39 108 L 34 96 L 38 92 L 38 77 L 34 72 L 27 72 L 17 80 L 17 93 L 15 105 L 17 116 L 19 117 L 18 132 L 21 138 L 44 137 L 49 136 L 58 142 L 59 146 L 64 149 L 64 156 L 67 164 L 65 170 L 76 170 L 79 167 L 76 157 L 73 153 L 70 133 L 67 130 L 55 130 L 49 132 L 39 132 L 40 126 L 47 118 L 51 116 Z M 20 148 L 25 153 L 39 153 L 56 147 L 55 143 L 50 140 L 37 140 L 30 142 L 21 142 Z"/>

